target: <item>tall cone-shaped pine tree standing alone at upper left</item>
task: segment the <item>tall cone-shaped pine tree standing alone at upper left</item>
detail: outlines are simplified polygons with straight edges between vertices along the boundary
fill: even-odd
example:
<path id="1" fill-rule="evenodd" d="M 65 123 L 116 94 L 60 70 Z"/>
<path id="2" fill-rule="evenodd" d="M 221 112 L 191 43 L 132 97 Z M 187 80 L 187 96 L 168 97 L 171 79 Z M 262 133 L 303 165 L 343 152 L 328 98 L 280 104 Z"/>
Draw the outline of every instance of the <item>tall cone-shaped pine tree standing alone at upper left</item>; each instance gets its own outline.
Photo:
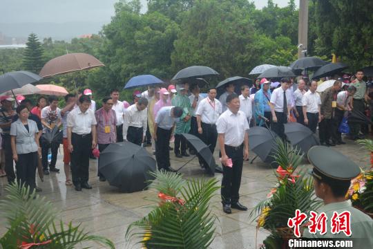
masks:
<path id="1" fill-rule="evenodd" d="M 31 33 L 26 42 L 26 48 L 23 52 L 23 68 L 26 71 L 39 74 L 44 66 L 43 58 L 44 49 L 41 47 L 41 42 L 37 39 L 37 35 Z"/>

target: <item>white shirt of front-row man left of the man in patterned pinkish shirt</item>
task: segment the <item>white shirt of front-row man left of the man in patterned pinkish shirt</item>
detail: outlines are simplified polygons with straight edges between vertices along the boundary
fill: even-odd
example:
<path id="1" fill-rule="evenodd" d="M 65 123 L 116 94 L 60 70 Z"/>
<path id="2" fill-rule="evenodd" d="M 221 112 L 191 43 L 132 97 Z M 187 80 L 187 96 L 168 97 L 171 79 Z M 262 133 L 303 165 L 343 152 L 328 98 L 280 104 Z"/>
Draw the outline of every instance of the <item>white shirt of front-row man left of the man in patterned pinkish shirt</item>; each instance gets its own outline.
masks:
<path id="1" fill-rule="evenodd" d="M 80 108 L 75 108 L 68 113 L 67 125 L 72 127 L 72 132 L 79 135 L 86 135 L 90 133 L 92 125 L 96 125 L 95 113 L 88 109 L 83 113 Z"/>

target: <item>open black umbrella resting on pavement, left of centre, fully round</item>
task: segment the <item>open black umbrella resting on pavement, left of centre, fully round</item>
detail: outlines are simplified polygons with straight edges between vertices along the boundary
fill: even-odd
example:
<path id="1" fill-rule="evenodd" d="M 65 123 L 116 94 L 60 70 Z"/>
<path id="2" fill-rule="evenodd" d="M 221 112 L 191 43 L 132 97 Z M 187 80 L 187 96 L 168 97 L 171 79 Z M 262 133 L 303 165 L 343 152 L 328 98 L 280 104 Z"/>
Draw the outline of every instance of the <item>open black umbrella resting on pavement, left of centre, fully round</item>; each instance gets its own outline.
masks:
<path id="1" fill-rule="evenodd" d="M 99 155 L 99 172 L 122 192 L 144 190 L 154 178 L 149 172 L 155 170 L 154 158 L 132 142 L 110 144 Z"/>

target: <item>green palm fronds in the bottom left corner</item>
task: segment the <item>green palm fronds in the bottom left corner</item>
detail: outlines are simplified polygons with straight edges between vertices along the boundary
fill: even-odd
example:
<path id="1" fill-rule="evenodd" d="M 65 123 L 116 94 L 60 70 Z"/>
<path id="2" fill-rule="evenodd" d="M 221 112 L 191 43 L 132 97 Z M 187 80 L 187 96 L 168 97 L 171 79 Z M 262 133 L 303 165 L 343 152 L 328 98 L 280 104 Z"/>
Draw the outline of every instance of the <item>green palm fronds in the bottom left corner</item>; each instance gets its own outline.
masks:
<path id="1" fill-rule="evenodd" d="M 110 240 L 90 235 L 71 222 L 55 222 L 57 212 L 50 201 L 41 198 L 29 188 L 15 183 L 8 185 L 9 194 L 1 201 L 1 212 L 8 221 L 8 232 L 0 239 L 3 248 L 19 248 L 19 243 L 46 243 L 37 248 L 75 248 L 86 241 L 96 241 L 102 246 L 115 248 Z"/>

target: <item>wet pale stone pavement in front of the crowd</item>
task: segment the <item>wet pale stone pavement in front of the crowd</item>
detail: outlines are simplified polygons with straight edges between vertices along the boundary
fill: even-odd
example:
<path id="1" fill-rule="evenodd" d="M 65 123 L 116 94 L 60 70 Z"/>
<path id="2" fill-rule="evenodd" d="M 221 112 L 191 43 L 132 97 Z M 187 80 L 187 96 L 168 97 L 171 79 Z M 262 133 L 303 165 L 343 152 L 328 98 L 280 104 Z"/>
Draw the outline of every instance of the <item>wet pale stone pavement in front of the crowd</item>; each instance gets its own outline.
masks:
<path id="1" fill-rule="evenodd" d="M 369 167 L 370 157 L 365 149 L 351 140 L 345 140 L 347 145 L 338 145 L 334 149 L 350 156 L 358 165 L 363 168 Z M 150 147 L 147 147 L 150 151 Z M 59 150 L 57 167 L 60 173 L 51 173 L 44 176 L 41 183 L 37 176 L 37 185 L 43 189 L 41 196 L 45 196 L 51 201 L 55 208 L 61 210 L 59 217 L 65 222 L 73 221 L 74 224 L 82 223 L 86 231 L 93 234 L 102 235 L 111 239 L 116 248 L 141 248 L 139 244 L 126 243 L 125 232 L 128 224 L 137 221 L 142 216 L 149 213 L 151 207 L 155 205 L 151 199 L 155 199 L 157 193 L 153 190 L 124 194 L 116 187 L 108 185 L 107 182 L 99 182 L 97 175 L 97 160 L 90 160 L 90 179 L 92 190 L 83 189 L 82 192 L 74 190 L 73 186 L 65 185 L 65 175 L 62 163 L 62 148 Z M 171 166 L 178 169 L 189 158 L 175 158 L 171 151 Z M 216 153 L 216 159 L 218 154 Z M 250 154 L 250 159 L 254 154 Z M 307 163 L 307 162 L 305 162 Z M 300 167 L 310 167 L 305 164 Z M 209 177 L 204 174 L 198 165 L 198 159 L 193 159 L 180 172 L 185 178 Z M 216 174 L 216 178 L 221 180 L 222 175 Z M 216 214 L 216 237 L 209 248 L 256 248 L 267 236 L 265 230 L 257 230 L 256 222 L 249 219 L 252 208 L 261 200 L 265 199 L 269 189 L 274 186 L 276 178 L 274 170 L 262 163 L 259 158 L 250 164 L 244 162 L 242 169 L 242 183 L 240 188 L 240 202 L 247 205 L 249 211 L 242 212 L 232 210 L 232 214 L 222 212 L 219 192 L 211 200 L 211 210 Z M 6 194 L 3 187 L 6 185 L 6 178 L 0 178 L 0 199 Z M 0 214 L 0 236 L 6 232 L 6 221 Z M 92 248 L 102 248 L 98 243 L 85 243 L 84 246 Z M 258 246 L 257 246 L 258 247 Z"/>

